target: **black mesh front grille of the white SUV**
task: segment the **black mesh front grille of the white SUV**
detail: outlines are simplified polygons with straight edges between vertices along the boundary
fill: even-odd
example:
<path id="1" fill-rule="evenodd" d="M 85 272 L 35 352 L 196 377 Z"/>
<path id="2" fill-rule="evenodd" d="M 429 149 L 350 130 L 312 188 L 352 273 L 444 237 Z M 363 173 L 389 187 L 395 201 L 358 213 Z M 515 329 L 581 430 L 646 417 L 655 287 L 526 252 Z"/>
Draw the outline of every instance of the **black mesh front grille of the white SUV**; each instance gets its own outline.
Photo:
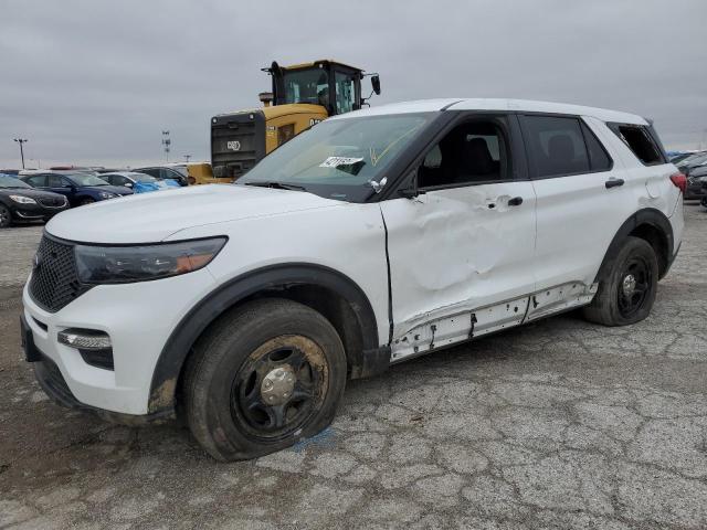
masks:
<path id="1" fill-rule="evenodd" d="M 34 258 L 30 295 L 42 308 L 56 312 L 88 290 L 78 282 L 74 247 L 44 234 Z"/>

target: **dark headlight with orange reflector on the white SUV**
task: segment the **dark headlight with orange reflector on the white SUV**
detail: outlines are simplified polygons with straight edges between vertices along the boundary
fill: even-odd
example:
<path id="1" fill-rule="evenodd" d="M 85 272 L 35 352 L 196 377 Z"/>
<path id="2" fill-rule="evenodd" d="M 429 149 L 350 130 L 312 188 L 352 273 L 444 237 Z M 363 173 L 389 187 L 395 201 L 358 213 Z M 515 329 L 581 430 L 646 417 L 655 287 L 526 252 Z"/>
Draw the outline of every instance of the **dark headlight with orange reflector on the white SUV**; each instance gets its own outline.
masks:
<path id="1" fill-rule="evenodd" d="M 166 278 L 209 264 L 228 237 L 145 246 L 74 247 L 78 278 L 84 284 L 122 284 Z"/>

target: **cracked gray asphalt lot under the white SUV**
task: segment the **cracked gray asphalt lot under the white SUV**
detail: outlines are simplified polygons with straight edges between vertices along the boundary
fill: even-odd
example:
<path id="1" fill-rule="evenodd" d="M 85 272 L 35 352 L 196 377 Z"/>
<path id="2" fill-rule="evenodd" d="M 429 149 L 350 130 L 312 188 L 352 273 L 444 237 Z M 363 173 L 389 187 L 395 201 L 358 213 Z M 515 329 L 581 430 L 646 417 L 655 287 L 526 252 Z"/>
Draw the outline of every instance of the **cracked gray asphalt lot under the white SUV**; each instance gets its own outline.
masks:
<path id="1" fill-rule="evenodd" d="M 42 227 L 0 232 L 0 527 L 707 528 L 707 211 L 652 316 L 556 317 L 354 381 L 334 425 L 220 464 L 50 403 L 22 361 Z"/>

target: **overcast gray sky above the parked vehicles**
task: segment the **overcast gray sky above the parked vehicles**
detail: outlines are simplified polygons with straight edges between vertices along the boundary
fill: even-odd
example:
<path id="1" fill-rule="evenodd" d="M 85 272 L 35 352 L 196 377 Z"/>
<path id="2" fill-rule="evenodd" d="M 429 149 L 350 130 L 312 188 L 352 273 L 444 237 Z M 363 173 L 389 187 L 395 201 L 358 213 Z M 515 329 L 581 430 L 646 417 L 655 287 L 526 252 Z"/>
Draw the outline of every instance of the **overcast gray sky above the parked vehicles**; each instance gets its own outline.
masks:
<path id="1" fill-rule="evenodd" d="M 707 146 L 707 0 L 0 0 L 0 167 L 209 159 L 209 118 L 258 106 L 260 72 L 337 59 L 373 105 L 519 97 L 655 119 Z M 299 24 L 299 25 L 298 25 Z M 368 87 L 368 83 L 366 85 Z"/>

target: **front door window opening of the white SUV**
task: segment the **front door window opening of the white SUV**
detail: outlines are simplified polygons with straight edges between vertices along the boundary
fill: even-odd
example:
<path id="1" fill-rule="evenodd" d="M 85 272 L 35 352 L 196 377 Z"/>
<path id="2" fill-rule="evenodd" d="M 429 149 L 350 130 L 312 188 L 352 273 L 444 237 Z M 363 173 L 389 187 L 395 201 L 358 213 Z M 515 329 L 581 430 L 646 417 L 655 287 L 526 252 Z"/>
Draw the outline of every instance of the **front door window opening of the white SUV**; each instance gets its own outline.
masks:
<path id="1" fill-rule="evenodd" d="M 497 182 L 510 178 L 508 141 L 502 120 L 474 120 L 452 129 L 425 156 L 421 188 Z"/>

